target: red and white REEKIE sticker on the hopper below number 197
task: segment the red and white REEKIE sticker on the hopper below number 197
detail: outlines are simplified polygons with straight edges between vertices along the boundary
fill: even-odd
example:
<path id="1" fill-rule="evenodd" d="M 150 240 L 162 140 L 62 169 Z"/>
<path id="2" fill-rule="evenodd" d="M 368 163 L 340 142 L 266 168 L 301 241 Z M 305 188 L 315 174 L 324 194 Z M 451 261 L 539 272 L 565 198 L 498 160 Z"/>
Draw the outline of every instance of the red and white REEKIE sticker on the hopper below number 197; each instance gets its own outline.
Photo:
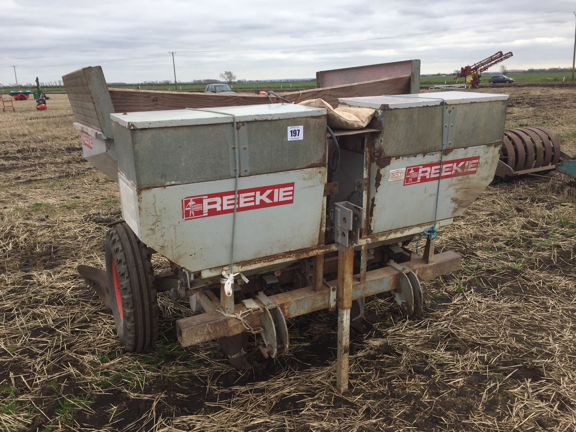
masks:
<path id="1" fill-rule="evenodd" d="M 238 190 L 236 211 L 264 209 L 294 202 L 294 183 Z M 182 200 L 182 218 L 198 219 L 234 213 L 234 191 L 187 196 Z"/>

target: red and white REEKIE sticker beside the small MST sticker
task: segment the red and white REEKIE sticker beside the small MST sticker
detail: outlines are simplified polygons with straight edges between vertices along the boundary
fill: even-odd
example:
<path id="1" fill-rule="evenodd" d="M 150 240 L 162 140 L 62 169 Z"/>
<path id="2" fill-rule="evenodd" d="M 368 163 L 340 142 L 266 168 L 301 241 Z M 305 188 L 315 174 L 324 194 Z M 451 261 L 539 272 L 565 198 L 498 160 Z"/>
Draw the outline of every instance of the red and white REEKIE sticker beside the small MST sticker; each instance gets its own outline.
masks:
<path id="1" fill-rule="evenodd" d="M 450 177 L 468 176 L 478 170 L 480 156 L 465 157 L 452 161 L 442 161 L 442 175 L 440 175 L 440 162 L 431 164 L 414 165 L 406 167 L 404 185 L 424 183 L 425 181 L 449 179 Z"/>

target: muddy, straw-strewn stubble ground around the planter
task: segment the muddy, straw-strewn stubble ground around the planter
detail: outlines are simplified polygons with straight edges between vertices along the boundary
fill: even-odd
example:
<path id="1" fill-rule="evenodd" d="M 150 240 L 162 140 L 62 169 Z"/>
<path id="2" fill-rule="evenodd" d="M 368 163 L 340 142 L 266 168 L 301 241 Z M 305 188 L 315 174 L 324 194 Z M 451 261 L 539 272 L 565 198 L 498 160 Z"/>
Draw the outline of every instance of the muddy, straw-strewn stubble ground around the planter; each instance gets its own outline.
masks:
<path id="1" fill-rule="evenodd" d="M 486 89 L 482 89 L 486 91 Z M 509 86 L 508 127 L 545 126 L 576 153 L 576 89 Z M 233 370 L 216 343 L 181 348 L 185 303 L 160 295 L 161 336 L 124 354 L 77 264 L 103 266 L 118 188 L 82 159 L 66 95 L 0 112 L 0 429 L 573 431 L 576 183 L 488 187 L 438 247 L 463 269 L 424 286 L 422 317 L 388 295 L 352 335 L 351 391 L 332 388 L 336 319 L 290 320 L 291 352 Z M 161 263 L 157 262 L 157 266 Z"/>

